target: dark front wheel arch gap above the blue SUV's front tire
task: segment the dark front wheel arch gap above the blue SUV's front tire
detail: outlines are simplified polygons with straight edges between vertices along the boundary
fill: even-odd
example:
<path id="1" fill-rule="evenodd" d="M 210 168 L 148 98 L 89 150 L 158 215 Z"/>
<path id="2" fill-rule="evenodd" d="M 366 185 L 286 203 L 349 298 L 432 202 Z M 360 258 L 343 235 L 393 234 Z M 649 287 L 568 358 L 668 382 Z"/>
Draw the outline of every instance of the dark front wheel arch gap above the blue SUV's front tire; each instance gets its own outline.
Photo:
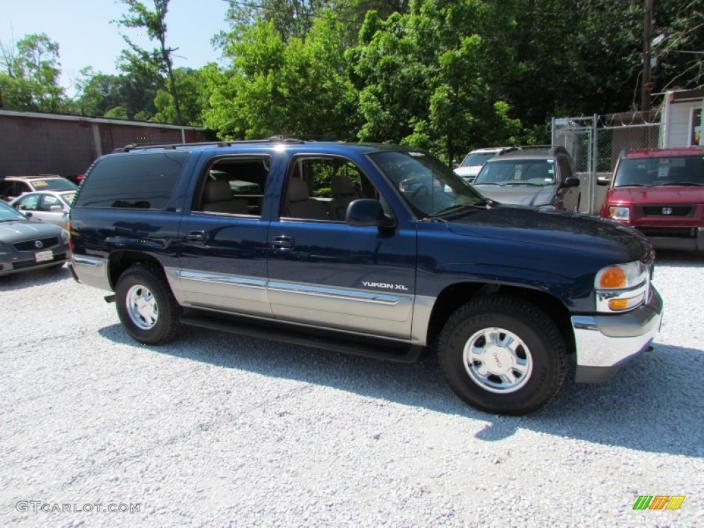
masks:
<path id="1" fill-rule="evenodd" d="M 427 344 L 434 344 L 445 322 L 460 306 L 480 296 L 501 294 L 520 298 L 533 303 L 543 310 L 555 326 L 560 330 L 565 348 L 570 355 L 574 354 L 574 334 L 570 322 L 570 310 L 559 298 L 532 288 L 509 286 L 506 284 L 485 284 L 480 282 L 460 282 L 451 284 L 440 292 L 433 305 L 427 329 Z"/>

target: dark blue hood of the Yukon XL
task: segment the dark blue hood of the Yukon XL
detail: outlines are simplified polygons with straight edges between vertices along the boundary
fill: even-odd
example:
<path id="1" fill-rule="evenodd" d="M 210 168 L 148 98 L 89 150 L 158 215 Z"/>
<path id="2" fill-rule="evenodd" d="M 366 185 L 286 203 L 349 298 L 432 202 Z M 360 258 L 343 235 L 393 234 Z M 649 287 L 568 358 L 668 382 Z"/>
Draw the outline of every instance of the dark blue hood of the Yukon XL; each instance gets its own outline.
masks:
<path id="1" fill-rule="evenodd" d="M 650 243 L 638 231 L 612 220 L 565 211 L 499 205 L 468 213 L 448 227 L 456 234 L 543 247 L 553 258 L 565 251 L 606 263 L 652 258 Z"/>

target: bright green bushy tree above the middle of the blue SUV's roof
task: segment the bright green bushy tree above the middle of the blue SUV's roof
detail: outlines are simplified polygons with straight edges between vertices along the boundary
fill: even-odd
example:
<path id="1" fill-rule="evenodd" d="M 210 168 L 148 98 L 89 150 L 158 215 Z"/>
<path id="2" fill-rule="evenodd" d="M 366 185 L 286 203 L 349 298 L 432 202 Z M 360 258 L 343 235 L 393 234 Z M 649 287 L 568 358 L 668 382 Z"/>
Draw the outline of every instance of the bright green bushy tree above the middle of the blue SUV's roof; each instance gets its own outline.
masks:
<path id="1" fill-rule="evenodd" d="M 305 41 L 293 37 L 284 42 L 271 22 L 247 28 L 225 46 L 232 67 L 203 73 L 212 94 L 206 126 L 227 139 L 349 137 L 356 94 L 346 78 L 340 30 L 332 16 L 316 20 Z"/>

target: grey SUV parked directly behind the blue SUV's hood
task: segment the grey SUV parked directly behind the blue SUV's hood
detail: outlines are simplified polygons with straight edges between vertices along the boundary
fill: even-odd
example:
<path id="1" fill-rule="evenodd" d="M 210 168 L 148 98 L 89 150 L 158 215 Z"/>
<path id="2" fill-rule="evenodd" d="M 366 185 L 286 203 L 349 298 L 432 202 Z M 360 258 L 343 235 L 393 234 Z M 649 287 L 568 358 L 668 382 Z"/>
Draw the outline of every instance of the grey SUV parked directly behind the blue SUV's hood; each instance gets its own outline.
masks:
<path id="1" fill-rule="evenodd" d="M 499 203 L 579 211 L 582 195 L 570 154 L 561 146 L 498 154 L 484 163 L 472 184 Z"/>

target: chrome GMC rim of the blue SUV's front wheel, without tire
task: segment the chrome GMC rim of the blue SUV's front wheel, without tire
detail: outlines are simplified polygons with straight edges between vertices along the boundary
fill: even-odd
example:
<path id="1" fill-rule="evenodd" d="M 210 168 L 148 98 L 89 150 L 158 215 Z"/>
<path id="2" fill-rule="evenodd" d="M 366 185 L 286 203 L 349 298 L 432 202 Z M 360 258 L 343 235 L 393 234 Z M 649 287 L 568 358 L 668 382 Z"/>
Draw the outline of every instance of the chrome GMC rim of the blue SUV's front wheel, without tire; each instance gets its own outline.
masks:
<path id="1" fill-rule="evenodd" d="M 503 328 L 474 332 L 463 348 L 463 364 L 472 382 L 498 394 L 515 392 L 533 372 L 533 358 L 524 341 Z"/>

